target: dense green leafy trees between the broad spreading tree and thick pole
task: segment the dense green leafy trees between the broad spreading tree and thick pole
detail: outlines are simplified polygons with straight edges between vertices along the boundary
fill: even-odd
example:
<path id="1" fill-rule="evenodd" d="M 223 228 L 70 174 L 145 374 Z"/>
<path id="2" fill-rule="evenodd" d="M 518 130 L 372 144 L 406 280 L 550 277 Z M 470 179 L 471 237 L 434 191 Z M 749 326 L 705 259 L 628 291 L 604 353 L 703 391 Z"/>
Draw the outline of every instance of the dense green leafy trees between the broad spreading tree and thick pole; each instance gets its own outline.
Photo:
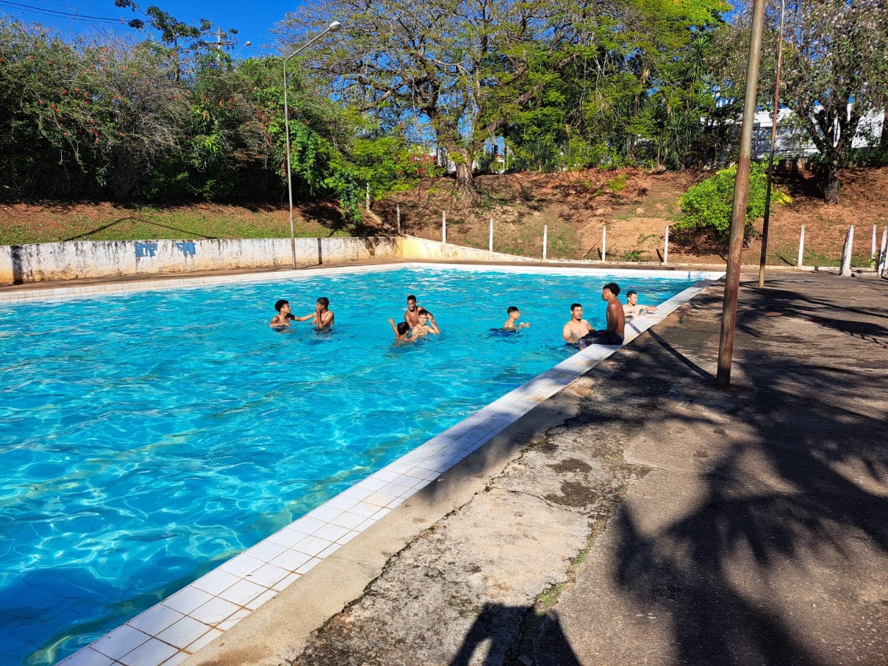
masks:
<path id="1" fill-rule="evenodd" d="M 603 4 L 584 29 L 593 46 L 504 130 L 529 168 L 699 161 L 712 105 L 707 54 L 721 2 Z"/>

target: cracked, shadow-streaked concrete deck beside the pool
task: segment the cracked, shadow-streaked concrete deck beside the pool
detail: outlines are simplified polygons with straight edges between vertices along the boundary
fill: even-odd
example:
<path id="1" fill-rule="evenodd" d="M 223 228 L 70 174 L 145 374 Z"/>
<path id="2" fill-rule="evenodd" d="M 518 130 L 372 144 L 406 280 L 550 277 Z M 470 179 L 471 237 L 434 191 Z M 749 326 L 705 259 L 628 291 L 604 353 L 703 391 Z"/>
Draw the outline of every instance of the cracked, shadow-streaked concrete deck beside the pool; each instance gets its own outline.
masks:
<path id="1" fill-rule="evenodd" d="M 884 664 L 888 281 L 740 298 L 731 391 L 717 286 L 187 666 Z"/>

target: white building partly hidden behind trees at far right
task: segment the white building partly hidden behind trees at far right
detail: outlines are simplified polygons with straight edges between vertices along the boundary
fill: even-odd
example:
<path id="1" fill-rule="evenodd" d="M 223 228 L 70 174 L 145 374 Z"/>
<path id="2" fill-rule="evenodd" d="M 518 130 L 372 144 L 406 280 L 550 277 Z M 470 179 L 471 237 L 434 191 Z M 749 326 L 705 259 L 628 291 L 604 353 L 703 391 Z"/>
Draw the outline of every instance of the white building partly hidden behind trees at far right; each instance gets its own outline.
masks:
<path id="1" fill-rule="evenodd" d="M 851 113 L 851 107 L 848 107 Z M 884 123 L 884 110 L 870 112 L 860 119 L 857 133 L 852 140 L 852 148 L 866 148 L 877 146 L 879 137 L 882 136 Z M 773 113 L 771 111 L 757 111 L 756 120 L 752 130 L 752 159 L 765 160 L 771 150 L 771 127 L 773 125 Z M 838 127 L 836 127 L 838 139 Z M 775 158 L 809 157 L 818 154 L 817 147 L 808 137 L 808 132 L 797 122 L 796 114 L 788 108 L 781 108 L 777 115 L 777 138 L 774 142 Z"/>

